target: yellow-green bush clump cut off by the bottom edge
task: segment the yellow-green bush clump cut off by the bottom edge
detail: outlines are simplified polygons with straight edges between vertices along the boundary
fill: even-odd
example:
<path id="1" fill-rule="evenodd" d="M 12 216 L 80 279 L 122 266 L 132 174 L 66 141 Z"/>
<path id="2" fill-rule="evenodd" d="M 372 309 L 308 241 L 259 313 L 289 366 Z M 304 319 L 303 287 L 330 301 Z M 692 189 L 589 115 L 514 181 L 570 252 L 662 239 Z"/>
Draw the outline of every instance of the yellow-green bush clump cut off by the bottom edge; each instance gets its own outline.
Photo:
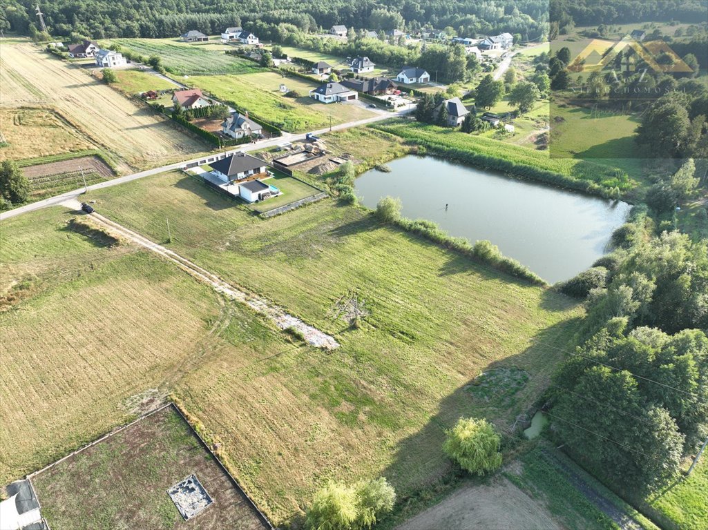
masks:
<path id="1" fill-rule="evenodd" d="M 307 509 L 308 529 L 370 529 L 394 507 L 396 492 L 385 478 L 360 480 L 354 485 L 329 482 L 317 491 Z"/>

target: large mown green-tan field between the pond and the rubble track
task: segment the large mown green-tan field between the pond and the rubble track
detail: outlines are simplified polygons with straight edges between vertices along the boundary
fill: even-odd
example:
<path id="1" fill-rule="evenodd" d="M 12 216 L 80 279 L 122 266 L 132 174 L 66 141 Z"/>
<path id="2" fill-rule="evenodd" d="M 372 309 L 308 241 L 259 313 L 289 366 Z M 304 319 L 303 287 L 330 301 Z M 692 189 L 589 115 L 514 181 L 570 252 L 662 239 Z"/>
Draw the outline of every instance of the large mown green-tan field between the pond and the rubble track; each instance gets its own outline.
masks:
<path id="1" fill-rule="evenodd" d="M 276 524 L 327 478 L 383 473 L 405 497 L 449 473 L 443 430 L 459 415 L 510 425 L 559 360 L 534 341 L 564 344 L 579 315 L 564 296 L 331 200 L 263 221 L 178 173 L 90 198 L 155 241 L 169 217 L 170 248 L 341 342 L 321 352 L 234 319 L 222 338 L 239 353 L 211 352 L 176 386 Z M 335 317 L 353 294 L 368 313 L 360 328 Z M 465 386 L 497 364 L 525 369 L 528 383 L 503 404 L 474 400 Z"/>

